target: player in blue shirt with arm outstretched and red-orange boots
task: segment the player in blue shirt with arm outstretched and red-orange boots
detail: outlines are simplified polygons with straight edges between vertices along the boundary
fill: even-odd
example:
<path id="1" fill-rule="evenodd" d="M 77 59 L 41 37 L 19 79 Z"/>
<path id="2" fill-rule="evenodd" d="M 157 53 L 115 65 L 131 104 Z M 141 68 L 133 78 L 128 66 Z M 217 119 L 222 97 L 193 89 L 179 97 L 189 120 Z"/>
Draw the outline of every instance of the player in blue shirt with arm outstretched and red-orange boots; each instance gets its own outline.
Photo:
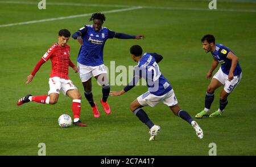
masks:
<path id="1" fill-rule="evenodd" d="M 84 95 L 92 106 L 94 117 L 100 117 L 96 102 L 93 100 L 92 95 L 92 76 L 98 80 L 98 83 L 102 85 L 102 99 L 101 104 L 106 114 L 110 114 L 110 107 L 107 102 L 110 87 L 107 77 L 107 70 L 103 62 L 103 49 L 106 40 L 109 38 L 121 38 L 121 39 L 143 39 L 143 35 L 126 35 L 124 33 L 117 33 L 111 31 L 106 27 L 102 27 L 102 24 L 106 20 L 105 15 L 95 13 L 89 19 L 93 21 L 93 25 L 84 25 L 77 32 L 73 33 L 72 37 L 77 39 L 81 45 L 77 62 L 79 67 L 79 75 L 84 86 Z"/>

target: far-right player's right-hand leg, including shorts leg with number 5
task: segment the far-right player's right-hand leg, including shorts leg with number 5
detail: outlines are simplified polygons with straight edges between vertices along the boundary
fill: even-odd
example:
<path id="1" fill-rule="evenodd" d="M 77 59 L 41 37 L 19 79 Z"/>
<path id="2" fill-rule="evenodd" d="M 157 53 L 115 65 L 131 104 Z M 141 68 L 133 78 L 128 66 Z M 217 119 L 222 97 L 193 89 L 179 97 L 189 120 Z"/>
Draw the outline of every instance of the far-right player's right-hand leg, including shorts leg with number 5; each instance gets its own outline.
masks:
<path id="1" fill-rule="evenodd" d="M 240 83 L 242 78 L 242 74 L 238 76 L 234 76 L 234 79 L 229 81 L 228 76 L 225 76 L 225 86 L 224 89 L 222 89 L 220 93 L 220 108 L 212 114 L 210 114 L 209 117 L 220 117 L 222 116 L 222 113 L 224 112 L 224 109 L 226 105 L 228 105 L 228 96 L 232 91 L 237 87 L 237 85 Z"/>

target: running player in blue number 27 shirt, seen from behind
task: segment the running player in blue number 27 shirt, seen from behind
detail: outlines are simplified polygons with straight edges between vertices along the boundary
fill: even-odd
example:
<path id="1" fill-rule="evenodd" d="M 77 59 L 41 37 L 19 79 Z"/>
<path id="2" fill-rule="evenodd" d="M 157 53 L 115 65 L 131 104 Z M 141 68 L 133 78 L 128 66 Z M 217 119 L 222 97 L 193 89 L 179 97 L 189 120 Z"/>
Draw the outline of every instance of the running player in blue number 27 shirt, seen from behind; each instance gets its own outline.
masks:
<path id="1" fill-rule="evenodd" d="M 159 69 L 158 63 L 163 59 L 162 55 L 157 53 L 144 53 L 142 55 L 142 48 L 139 45 L 131 46 L 130 53 L 133 60 L 138 62 L 138 65 L 134 68 L 133 80 L 122 91 L 111 91 L 110 96 L 122 95 L 133 88 L 138 83 L 139 78 L 143 78 L 147 82 L 148 91 L 131 103 L 130 110 L 150 129 L 149 140 L 155 139 L 160 126 L 155 125 L 142 108 L 147 105 L 154 107 L 159 102 L 168 105 L 175 115 L 191 124 L 196 131 L 196 135 L 202 139 L 203 130 L 185 110 L 180 108 L 174 94 L 174 89 L 172 89 L 170 82 L 164 78 Z"/>

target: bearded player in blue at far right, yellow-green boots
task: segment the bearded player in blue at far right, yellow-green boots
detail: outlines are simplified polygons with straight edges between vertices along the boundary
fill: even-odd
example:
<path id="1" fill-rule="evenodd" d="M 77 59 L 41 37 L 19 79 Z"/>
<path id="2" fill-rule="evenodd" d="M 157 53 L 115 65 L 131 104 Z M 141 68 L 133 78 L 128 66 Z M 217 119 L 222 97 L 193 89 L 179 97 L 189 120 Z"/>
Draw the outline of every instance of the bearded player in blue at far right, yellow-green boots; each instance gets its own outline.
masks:
<path id="1" fill-rule="evenodd" d="M 219 70 L 213 76 L 212 81 L 208 85 L 205 95 L 205 108 L 200 113 L 196 114 L 196 118 L 220 117 L 224 112 L 226 105 L 228 104 L 228 96 L 237 87 L 242 78 L 242 69 L 238 63 L 237 56 L 226 46 L 221 44 L 215 44 L 215 38 L 213 35 L 205 35 L 201 42 L 203 49 L 206 53 L 210 52 L 213 56 L 212 67 L 210 67 L 207 73 L 207 79 L 211 78 L 212 72 L 221 64 Z M 212 114 L 209 113 L 210 105 L 214 100 L 214 91 L 224 85 L 220 93 L 220 108 Z"/>

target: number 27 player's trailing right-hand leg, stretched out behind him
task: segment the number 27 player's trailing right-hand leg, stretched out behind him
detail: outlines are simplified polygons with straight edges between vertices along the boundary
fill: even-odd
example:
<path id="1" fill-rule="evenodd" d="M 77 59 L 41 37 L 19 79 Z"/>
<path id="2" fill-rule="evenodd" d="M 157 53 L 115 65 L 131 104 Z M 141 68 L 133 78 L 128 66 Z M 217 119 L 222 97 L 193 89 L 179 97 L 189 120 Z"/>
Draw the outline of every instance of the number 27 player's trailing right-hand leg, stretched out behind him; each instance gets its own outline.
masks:
<path id="1" fill-rule="evenodd" d="M 203 138 L 203 136 L 204 136 L 203 130 L 200 128 L 200 126 L 197 124 L 197 122 L 194 121 L 193 118 L 191 118 L 191 116 L 188 114 L 188 112 L 186 112 L 185 110 L 182 110 L 180 108 L 180 106 L 177 102 L 175 93 L 174 93 L 174 89 L 171 89 L 171 91 L 166 93 L 166 95 L 164 95 L 162 101 L 164 104 L 166 104 L 170 107 L 170 109 L 172 110 L 172 113 L 174 113 L 178 117 L 184 119 L 189 124 L 191 124 L 193 129 L 195 129 L 196 135 L 198 138 L 200 138 L 200 139 Z"/>

